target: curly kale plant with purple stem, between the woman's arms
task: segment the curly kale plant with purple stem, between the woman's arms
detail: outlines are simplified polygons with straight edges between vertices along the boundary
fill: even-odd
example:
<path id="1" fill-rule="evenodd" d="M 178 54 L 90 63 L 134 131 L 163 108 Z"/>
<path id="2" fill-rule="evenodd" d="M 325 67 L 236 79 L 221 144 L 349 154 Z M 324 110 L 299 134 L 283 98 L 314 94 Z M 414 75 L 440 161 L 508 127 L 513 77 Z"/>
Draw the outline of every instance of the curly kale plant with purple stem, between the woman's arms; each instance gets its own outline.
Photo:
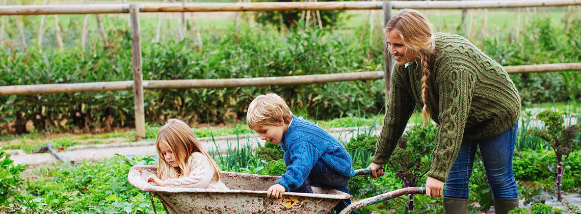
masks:
<path id="1" fill-rule="evenodd" d="M 432 165 L 428 155 L 434 147 L 436 127 L 416 125 L 401 136 L 388 164 L 403 181 L 404 187 L 416 187 Z M 414 210 L 414 195 L 409 196 L 408 211 Z"/>

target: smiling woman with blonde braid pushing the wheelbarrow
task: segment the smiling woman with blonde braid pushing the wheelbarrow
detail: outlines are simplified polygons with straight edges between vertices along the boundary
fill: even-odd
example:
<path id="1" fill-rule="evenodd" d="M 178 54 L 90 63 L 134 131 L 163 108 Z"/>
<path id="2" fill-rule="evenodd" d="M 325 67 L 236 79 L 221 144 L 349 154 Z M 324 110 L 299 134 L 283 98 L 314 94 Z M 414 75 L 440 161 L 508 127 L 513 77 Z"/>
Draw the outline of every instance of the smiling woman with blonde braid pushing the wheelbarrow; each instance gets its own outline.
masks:
<path id="1" fill-rule="evenodd" d="M 416 106 L 437 124 L 426 195 L 445 213 L 468 213 L 468 181 L 480 149 L 496 213 L 518 206 L 512 152 L 521 99 L 507 72 L 460 35 L 432 33 L 416 10 L 397 12 L 383 33 L 396 59 L 383 129 L 370 165 L 376 178 L 389 161 Z M 446 188 L 444 189 L 444 182 Z"/>

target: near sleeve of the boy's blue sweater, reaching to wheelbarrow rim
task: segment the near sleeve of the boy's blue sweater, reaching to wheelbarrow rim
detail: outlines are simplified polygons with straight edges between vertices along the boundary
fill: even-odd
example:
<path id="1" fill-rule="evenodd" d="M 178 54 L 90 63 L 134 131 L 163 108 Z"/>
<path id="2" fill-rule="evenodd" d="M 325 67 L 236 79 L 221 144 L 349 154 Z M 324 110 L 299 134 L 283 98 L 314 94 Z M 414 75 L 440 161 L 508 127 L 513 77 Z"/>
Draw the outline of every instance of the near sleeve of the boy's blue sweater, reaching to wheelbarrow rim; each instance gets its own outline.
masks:
<path id="1" fill-rule="evenodd" d="M 286 166 L 286 172 L 276 183 L 284 186 L 286 191 L 290 191 L 300 187 L 309 177 L 311 169 L 322 155 L 322 150 L 304 140 L 286 143 L 289 144 L 291 164 Z"/>

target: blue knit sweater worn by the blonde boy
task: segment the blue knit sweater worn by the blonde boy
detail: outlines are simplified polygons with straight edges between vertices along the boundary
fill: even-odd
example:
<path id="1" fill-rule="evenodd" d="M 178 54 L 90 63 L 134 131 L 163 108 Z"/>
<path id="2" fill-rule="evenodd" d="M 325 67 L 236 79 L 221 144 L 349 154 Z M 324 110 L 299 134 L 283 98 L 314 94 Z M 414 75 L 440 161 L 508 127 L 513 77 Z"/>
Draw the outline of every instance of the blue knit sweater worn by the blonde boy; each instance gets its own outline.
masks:
<path id="1" fill-rule="evenodd" d="M 351 156 L 343 145 L 321 127 L 299 117 L 293 116 L 279 145 L 285 153 L 285 158 L 290 159 L 286 172 L 277 181 L 277 184 L 286 188 L 286 191 L 302 185 L 319 160 L 343 176 L 353 177 L 355 174 L 351 166 Z"/>

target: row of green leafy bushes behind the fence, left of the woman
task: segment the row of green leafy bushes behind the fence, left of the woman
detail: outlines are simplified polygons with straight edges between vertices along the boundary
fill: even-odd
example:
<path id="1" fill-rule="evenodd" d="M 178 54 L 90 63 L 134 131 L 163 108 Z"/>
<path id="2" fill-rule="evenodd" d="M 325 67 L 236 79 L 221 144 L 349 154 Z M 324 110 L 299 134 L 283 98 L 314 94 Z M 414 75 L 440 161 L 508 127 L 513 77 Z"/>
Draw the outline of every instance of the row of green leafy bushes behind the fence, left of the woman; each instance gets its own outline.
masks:
<path id="1" fill-rule="evenodd" d="M 124 26 L 120 24 L 120 26 Z M 129 81 L 131 42 L 124 29 L 109 31 L 111 47 L 73 46 L 66 50 L 30 48 L 0 53 L 2 85 Z M 144 33 L 145 34 L 145 33 Z M 357 33 L 358 34 L 358 33 Z M 361 35 L 340 35 L 316 28 L 279 32 L 239 26 L 195 41 L 144 42 L 144 80 L 229 79 L 295 76 L 375 70 L 381 45 L 359 44 Z M 368 56 L 353 58 L 353 56 Z M 342 90 L 336 90 L 341 88 Z M 271 87 L 145 90 L 146 122 L 178 117 L 188 124 L 242 119 L 256 95 L 277 92 L 297 112 L 314 119 L 376 114 L 383 108 L 383 80 Z M 1 96 L 1 133 L 37 131 L 101 133 L 134 126 L 131 91 Z"/>

